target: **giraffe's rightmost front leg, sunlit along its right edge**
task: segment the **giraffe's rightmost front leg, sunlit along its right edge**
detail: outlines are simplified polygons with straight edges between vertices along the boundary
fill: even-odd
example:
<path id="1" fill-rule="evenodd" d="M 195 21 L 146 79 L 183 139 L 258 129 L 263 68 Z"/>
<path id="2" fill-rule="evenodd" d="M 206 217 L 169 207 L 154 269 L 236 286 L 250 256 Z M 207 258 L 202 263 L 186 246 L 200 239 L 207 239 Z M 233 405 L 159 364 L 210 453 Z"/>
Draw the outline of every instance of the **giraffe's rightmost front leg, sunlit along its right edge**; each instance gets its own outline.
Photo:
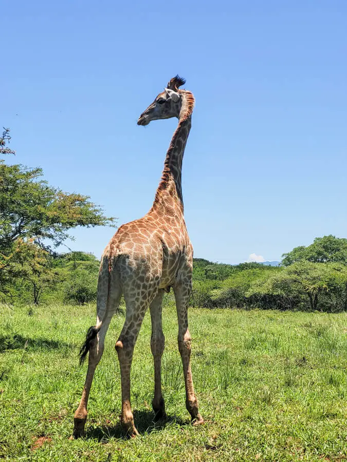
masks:
<path id="1" fill-rule="evenodd" d="M 181 355 L 183 373 L 186 386 L 186 407 L 192 417 L 193 425 L 203 424 L 204 420 L 199 414 L 198 403 L 194 393 L 190 354 L 192 339 L 188 330 L 188 303 L 191 292 L 191 283 L 174 287 L 176 309 L 178 317 L 178 350 Z"/>

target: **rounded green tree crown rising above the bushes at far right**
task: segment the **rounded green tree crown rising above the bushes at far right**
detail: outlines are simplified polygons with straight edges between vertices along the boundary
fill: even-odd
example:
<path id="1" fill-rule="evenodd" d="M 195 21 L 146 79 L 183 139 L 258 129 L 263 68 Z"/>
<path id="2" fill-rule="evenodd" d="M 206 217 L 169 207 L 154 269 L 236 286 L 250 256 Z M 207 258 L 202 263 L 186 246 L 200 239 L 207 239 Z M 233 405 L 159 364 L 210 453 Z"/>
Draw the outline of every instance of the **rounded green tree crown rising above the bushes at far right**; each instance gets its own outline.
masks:
<path id="1" fill-rule="evenodd" d="M 283 254 L 282 264 L 291 265 L 297 261 L 314 263 L 338 262 L 347 264 L 347 239 L 335 236 L 316 238 L 313 244 L 295 247 L 291 252 Z"/>

